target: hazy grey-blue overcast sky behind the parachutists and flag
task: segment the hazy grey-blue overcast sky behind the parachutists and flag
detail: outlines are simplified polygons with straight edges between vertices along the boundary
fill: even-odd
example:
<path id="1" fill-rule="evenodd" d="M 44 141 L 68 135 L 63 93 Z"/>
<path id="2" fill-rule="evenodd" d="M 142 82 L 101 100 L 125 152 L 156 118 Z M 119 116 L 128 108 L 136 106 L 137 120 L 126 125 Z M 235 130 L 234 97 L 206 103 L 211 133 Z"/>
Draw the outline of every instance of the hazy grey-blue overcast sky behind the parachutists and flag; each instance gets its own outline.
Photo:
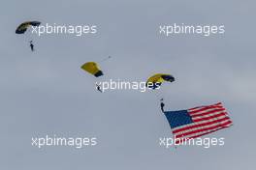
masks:
<path id="1" fill-rule="evenodd" d="M 3 0 L 0 6 L 0 168 L 45 169 L 252 169 L 255 159 L 255 2 Z M 16 35 L 26 20 L 97 25 L 97 34 Z M 159 35 L 173 23 L 225 25 L 224 35 Z M 35 51 L 29 49 L 29 41 Z M 105 75 L 80 70 L 101 61 Z M 159 91 L 99 93 L 95 81 L 145 81 L 156 72 L 176 81 Z M 224 146 L 159 146 L 172 137 L 159 108 L 187 109 L 223 102 L 232 128 Z M 31 146 L 31 138 L 96 137 L 97 146 Z"/>

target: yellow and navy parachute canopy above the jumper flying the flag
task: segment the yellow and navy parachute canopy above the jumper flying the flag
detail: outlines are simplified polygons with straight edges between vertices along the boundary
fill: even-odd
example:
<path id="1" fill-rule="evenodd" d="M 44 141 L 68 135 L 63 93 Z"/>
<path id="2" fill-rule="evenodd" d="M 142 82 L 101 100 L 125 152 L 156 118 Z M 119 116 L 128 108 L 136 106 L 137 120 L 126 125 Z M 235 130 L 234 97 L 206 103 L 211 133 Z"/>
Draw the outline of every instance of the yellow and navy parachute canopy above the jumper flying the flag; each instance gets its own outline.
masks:
<path id="1" fill-rule="evenodd" d="M 158 89 L 164 81 L 173 82 L 175 77 L 171 74 L 157 73 L 150 76 L 146 81 L 146 87 L 150 89 Z"/>

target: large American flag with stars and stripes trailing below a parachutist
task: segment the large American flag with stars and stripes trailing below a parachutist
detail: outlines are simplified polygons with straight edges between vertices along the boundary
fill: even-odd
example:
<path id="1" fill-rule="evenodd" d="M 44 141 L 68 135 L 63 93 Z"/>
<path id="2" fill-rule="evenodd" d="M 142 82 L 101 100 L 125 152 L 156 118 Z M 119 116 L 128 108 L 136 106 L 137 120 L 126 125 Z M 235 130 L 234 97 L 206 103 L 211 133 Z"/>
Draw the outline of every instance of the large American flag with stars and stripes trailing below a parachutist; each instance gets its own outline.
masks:
<path id="1" fill-rule="evenodd" d="M 176 137 L 176 144 L 232 126 L 221 102 L 188 110 L 166 111 L 165 116 Z"/>

